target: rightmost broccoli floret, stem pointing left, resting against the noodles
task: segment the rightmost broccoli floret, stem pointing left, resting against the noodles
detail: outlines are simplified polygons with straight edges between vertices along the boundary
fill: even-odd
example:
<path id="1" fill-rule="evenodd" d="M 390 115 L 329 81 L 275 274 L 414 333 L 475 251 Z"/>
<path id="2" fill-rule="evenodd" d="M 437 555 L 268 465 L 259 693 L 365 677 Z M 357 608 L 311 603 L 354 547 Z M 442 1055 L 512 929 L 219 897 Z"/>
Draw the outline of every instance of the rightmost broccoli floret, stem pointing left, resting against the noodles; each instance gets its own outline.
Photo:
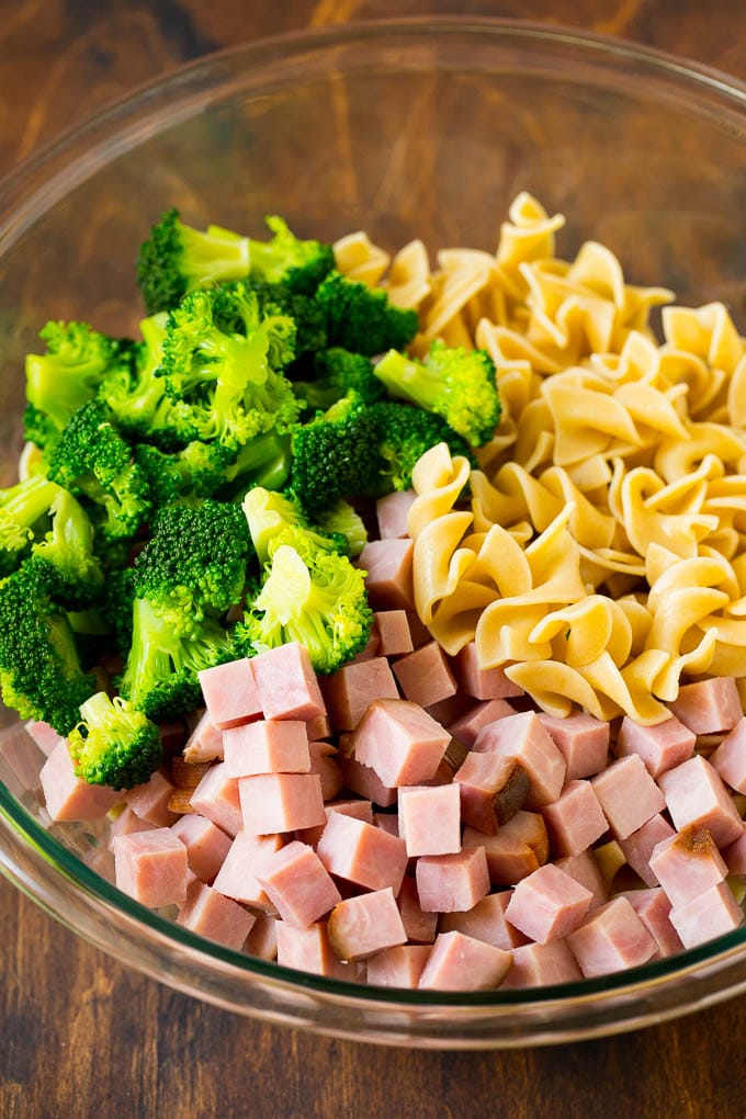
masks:
<path id="1" fill-rule="evenodd" d="M 434 341 L 423 361 L 391 349 L 374 369 L 391 396 L 443 416 L 470 446 L 492 439 L 500 422 L 500 397 L 487 350 L 469 352 Z"/>

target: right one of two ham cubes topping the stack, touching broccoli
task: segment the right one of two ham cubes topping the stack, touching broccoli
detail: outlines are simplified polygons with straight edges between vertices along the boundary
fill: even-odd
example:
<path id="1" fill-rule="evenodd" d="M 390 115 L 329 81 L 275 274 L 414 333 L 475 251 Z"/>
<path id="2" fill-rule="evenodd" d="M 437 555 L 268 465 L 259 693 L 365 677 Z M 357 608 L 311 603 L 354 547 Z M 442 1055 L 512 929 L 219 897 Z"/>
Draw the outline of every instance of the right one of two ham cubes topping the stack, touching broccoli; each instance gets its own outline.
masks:
<path id="1" fill-rule="evenodd" d="M 309 721 L 325 714 L 311 657 L 298 641 L 257 653 L 252 669 L 265 718 Z"/>

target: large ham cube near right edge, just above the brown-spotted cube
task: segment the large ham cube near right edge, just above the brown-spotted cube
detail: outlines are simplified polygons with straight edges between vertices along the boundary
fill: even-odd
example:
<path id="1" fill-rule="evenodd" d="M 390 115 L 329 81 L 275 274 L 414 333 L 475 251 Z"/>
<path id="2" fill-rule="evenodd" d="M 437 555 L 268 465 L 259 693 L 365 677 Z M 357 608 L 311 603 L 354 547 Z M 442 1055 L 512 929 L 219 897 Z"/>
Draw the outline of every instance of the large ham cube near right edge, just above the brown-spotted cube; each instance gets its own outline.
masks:
<path id="1" fill-rule="evenodd" d="M 705 758 L 697 754 L 668 770 L 659 778 L 659 784 L 678 831 L 689 825 L 703 827 L 718 847 L 727 847 L 744 830 L 720 774 Z"/>

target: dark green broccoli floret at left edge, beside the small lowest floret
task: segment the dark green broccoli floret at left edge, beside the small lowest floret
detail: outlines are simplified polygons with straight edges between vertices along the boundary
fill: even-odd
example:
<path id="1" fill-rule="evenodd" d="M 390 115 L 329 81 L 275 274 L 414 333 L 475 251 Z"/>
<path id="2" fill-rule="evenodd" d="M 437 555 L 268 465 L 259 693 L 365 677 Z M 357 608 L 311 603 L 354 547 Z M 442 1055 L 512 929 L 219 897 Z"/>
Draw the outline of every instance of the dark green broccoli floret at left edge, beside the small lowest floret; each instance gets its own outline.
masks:
<path id="1" fill-rule="evenodd" d="M 0 582 L 0 688 L 22 720 L 49 723 L 58 734 L 73 730 L 81 704 L 97 690 L 65 610 L 28 562 Z"/>

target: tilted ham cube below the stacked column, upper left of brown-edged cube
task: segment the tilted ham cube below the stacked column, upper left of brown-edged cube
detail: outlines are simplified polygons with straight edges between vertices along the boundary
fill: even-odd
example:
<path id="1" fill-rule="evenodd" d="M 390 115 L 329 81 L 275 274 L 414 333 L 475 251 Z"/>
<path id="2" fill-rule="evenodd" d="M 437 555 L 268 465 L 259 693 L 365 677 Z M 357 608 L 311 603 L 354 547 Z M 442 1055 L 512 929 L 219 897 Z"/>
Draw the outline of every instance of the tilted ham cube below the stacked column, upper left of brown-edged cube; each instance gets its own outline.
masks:
<path id="1" fill-rule="evenodd" d="M 313 848 L 296 839 L 262 862 L 256 881 L 282 920 L 299 929 L 308 929 L 342 900 Z"/>

